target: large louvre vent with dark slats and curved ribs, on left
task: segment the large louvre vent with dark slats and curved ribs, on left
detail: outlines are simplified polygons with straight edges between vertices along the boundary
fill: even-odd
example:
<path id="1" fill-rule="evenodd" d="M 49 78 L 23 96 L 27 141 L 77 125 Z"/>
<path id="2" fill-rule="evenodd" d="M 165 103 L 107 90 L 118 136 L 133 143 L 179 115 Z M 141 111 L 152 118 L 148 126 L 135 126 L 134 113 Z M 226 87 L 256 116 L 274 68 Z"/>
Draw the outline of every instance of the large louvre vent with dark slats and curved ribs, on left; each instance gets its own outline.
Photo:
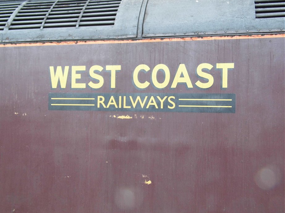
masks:
<path id="1" fill-rule="evenodd" d="M 121 0 L 56 0 L 0 5 L 0 29 L 18 12 L 9 30 L 114 25 Z M 15 12 L 14 12 L 15 13 Z"/>

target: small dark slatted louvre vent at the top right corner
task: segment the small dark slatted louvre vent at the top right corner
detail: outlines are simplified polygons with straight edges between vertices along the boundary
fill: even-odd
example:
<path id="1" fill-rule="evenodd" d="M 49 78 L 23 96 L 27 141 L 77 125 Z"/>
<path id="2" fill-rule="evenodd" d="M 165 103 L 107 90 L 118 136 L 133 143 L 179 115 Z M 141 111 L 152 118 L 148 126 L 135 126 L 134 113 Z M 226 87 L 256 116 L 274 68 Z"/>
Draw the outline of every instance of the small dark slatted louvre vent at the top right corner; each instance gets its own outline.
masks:
<path id="1" fill-rule="evenodd" d="M 285 0 L 255 0 L 255 18 L 285 17 Z"/>

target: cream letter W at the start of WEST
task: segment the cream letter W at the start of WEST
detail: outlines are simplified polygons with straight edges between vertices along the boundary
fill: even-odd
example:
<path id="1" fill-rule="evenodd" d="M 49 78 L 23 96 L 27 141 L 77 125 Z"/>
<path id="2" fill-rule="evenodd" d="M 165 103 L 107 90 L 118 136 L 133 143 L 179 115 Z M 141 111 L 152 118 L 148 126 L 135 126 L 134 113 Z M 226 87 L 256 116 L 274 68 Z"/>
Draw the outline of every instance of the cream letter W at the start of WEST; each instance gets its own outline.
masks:
<path id="1" fill-rule="evenodd" d="M 69 69 L 69 66 L 65 66 L 64 67 L 64 73 L 62 73 L 62 67 L 58 66 L 56 68 L 56 72 L 54 73 L 54 68 L 49 67 L 50 80 L 51 80 L 52 88 L 57 88 L 58 80 L 59 80 L 61 88 L 66 87 L 68 69 Z"/>

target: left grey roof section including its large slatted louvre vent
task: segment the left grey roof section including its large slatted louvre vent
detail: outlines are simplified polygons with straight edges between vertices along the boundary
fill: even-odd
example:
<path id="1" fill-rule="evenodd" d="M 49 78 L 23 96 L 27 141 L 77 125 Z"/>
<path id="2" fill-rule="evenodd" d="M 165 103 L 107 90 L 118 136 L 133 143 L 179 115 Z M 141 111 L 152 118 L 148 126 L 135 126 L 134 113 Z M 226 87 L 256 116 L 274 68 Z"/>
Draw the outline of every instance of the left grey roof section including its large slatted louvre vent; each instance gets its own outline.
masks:
<path id="1" fill-rule="evenodd" d="M 135 38 L 142 1 L 0 2 L 0 41 Z"/>

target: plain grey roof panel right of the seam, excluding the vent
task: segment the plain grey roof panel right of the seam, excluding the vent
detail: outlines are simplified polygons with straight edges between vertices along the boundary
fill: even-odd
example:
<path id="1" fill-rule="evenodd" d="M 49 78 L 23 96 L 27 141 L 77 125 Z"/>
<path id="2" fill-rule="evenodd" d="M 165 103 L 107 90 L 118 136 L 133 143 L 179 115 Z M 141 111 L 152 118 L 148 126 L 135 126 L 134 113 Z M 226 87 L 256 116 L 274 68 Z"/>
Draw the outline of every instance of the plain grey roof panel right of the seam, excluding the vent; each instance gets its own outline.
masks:
<path id="1" fill-rule="evenodd" d="M 254 0 L 148 0 L 143 36 L 284 32 L 284 25 L 283 17 L 256 18 Z"/>

